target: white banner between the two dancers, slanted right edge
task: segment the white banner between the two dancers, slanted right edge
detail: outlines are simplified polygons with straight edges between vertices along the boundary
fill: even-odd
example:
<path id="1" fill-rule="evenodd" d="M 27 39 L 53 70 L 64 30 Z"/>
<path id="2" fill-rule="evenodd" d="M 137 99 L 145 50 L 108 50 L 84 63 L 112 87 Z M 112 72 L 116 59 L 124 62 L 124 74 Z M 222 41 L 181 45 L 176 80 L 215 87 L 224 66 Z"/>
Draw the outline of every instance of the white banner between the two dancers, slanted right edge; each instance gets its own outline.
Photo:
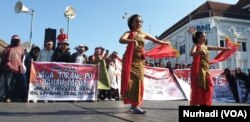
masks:
<path id="1" fill-rule="evenodd" d="M 145 66 L 143 100 L 180 99 L 186 98 L 167 68 Z"/>

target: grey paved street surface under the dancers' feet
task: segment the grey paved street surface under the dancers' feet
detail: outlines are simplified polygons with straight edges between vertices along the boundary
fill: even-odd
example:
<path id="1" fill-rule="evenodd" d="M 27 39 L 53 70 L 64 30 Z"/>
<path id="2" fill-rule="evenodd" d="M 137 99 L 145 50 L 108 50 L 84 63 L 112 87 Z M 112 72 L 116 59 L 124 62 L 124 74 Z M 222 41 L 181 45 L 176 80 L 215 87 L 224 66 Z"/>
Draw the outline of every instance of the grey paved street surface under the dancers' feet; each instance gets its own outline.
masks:
<path id="1" fill-rule="evenodd" d="M 186 100 L 144 101 L 145 115 L 128 111 L 122 101 L 0 103 L 0 122 L 178 122 L 178 108 Z M 217 105 L 249 105 L 213 103 Z"/>

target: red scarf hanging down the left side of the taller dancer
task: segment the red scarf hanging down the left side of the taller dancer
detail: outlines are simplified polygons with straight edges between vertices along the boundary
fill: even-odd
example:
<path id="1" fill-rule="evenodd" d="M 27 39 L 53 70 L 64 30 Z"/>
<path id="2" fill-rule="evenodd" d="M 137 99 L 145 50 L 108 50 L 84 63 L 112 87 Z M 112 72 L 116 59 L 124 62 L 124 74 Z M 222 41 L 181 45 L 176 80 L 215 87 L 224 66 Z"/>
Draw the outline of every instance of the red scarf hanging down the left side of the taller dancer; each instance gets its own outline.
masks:
<path id="1" fill-rule="evenodd" d="M 128 39 L 133 39 L 134 36 L 135 36 L 134 33 L 130 32 Z M 121 95 L 122 96 L 124 96 L 126 91 L 128 90 L 128 81 L 130 79 L 133 49 L 134 49 L 134 43 L 132 42 L 128 43 L 126 52 L 123 57 L 122 74 L 121 74 Z"/>

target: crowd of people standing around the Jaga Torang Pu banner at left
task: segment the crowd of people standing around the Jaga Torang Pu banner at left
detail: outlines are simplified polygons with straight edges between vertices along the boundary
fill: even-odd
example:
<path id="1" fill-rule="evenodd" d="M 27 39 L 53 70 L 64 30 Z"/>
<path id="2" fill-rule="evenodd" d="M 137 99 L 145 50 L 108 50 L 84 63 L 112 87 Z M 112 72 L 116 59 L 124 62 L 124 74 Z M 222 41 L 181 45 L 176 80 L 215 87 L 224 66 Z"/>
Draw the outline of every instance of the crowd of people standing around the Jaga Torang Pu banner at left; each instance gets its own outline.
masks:
<path id="1" fill-rule="evenodd" d="M 8 103 L 27 101 L 32 61 L 79 64 L 100 64 L 103 62 L 105 64 L 104 70 L 106 71 L 105 77 L 108 77 L 107 71 L 110 66 L 114 66 L 115 59 L 118 57 L 116 51 L 109 54 L 108 50 L 105 51 L 105 49 L 100 46 L 95 48 L 93 55 L 87 56 L 85 52 L 88 51 L 88 46 L 80 44 L 74 48 L 75 52 L 71 54 L 67 35 L 63 29 L 60 29 L 60 32 L 57 37 L 57 46 L 55 49 L 53 49 L 55 45 L 53 40 L 46 40 L 44 49 L 32 45 L 29 52 L 20 46 L 21 38 L 18 35 L 11 37 L 10 45 L 6 47 L 1 54 L 0 101 Z M 111 85 L 111 90 L 98 89 L 97 99 L 119 100 L 117 79 L 106 82 L 113 84 Z M 45 100 L 44 102 L 48 101 Z"/>

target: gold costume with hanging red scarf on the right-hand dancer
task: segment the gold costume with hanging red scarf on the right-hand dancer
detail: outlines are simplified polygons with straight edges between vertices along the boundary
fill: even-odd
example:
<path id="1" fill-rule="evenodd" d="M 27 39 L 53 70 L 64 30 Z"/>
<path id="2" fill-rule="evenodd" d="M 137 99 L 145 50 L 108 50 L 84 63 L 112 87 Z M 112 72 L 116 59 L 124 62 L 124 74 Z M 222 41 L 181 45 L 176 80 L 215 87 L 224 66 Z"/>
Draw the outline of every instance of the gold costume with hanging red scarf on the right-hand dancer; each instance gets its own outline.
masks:
<path id="1" fill-rule="evenodd" d="M 203 55 L 193 56 L 191 66 L 191 100 L 190 105 L 212 105 L 213 79 L 209 74 L 209 51 L 204 45 L 198 45 L 205 52 Z"/>

